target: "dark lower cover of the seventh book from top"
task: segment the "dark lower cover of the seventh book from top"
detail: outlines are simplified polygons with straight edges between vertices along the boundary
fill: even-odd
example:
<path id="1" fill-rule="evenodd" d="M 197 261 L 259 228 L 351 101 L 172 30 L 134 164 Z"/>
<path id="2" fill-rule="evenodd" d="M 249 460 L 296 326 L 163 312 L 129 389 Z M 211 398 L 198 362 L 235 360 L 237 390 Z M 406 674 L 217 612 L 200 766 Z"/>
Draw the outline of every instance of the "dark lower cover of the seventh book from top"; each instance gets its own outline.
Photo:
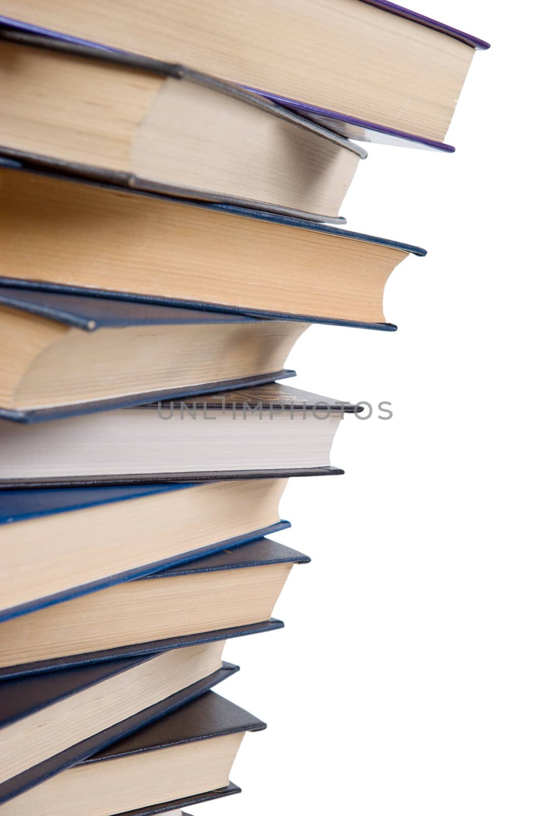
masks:
<path id="1" fill-rule="evenodd" d="M 33 663 L 17 663 L 14 666 L 0 668 L 0 681 L 11 680 L 14 677 L 39 676 L 44 672 L 57 672 L 62 669 L 78 666 L 90 666 L 95 663 L 109 663 L 124 658 L 140 657 L 145 654 L 160 654 L 171 649 L 188 649 L 190 646 L 231 641 L 235 637 L 257 635 L 264 632 L 276 632 L 284 628 L 282 620 L 269 618 L 260 623 L 250 623 L 247 626 L 236 626 L 229 629 L 216 629 L 214 632 L 198 632 L 197 635 L 181 637 L 167 637 L 159 641 L 147 643 L 131 643 L 127 646 L 118 646 L 116 649 L 100 649 L 95 652 L 69 654 L 62 658 L 49 660 L 34 660 Z"/>

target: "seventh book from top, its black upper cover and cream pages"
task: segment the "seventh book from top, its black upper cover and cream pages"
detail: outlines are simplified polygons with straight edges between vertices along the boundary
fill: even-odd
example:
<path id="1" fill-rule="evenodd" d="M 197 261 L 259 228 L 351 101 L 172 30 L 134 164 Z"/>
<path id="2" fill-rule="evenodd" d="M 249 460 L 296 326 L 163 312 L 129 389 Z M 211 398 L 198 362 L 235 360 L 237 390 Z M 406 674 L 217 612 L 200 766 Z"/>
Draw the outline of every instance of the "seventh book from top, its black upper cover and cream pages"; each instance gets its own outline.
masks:
<path id="1" fill-rule="evenodd" d="M 292 566 L 309 560 L 259 539 L 64 603 L 45 599 L 0 623 L 0 667 L 264 622 Z"/>

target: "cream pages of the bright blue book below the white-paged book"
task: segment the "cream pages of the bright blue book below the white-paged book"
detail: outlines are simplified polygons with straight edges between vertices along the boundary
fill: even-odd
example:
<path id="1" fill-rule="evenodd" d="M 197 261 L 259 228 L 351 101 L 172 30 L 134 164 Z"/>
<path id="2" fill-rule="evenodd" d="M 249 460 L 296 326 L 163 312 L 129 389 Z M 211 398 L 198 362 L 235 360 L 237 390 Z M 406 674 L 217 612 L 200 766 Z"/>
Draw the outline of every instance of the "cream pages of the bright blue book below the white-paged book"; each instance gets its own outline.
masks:
<path id="1" fill-rule="evenodd" d="M 279 520 L 285 487 L 214 482 L 2 525 L 2 608 L 261 530 Z"/>

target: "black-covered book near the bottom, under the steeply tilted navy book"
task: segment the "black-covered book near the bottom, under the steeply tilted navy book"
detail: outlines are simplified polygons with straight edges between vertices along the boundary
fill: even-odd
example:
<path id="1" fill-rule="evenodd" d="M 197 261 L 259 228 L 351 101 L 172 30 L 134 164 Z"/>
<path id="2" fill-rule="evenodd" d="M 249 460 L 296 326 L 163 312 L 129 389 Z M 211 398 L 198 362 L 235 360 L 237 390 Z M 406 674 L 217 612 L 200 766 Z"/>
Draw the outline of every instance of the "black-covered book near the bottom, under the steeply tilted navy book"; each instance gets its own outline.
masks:
<path id="1" fill-rule="evenodd" d="M 36 787 L 14 785 L 2 816 L 111 816 L 227 787 L 244 734 L 264 728 L 208 691 Z"/>

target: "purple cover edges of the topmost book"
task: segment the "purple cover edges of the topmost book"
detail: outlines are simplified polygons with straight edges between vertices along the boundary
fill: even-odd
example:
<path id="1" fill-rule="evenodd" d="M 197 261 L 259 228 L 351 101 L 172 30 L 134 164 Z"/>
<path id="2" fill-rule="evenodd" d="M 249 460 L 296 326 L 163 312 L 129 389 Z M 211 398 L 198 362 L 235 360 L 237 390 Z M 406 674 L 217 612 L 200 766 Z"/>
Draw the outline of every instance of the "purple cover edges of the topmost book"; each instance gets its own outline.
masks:
<path id="1" fill-rule="evenodd" d="M 434 29 L 440 33 L 446 34 L 448 37 L 455 38 L 460 42 L 464 42 L 469 47 L 479 50 L 486 50 L 490 47 L 488 42 L 482 39 L 473 37 L 472 34 L 465 33 L 459 29 L 453 28 L 451 25 L 440 23 L 438 20 L 433 20 L 432 17 L 427 17 L 419 14 L 417 11 L 411 11 L 403 6 L 397 6 L 396 3 L 389 2 L 389 0 L 361 0 L 370 6 L 388 11 L 399 17 L 404 17 L 406 20 L 412 20 L 415 23 L 426 26 L 428 29 Z M 38 34 L 42 37 L 50 37 L 61 39 L 64 42 L 71 42 L 74 45 L 86 45 L 92 47 L 99 47 L 104 51 L 118 51 L 118 49 L 110 48 L 100 43 L 91 42 L 78 37 L 70 37 L 69 34 L 51 31 L 50 29 L 43 29 L 40 26 L 24 23 L 20 20 L 13 20 L 10 17 L 0 15 L 0 26 L 5 28 L 22 31 L 25 33 Z M 279 96 L 269 91 L 261 91 L 259 88 L 246 86 L 249 91 L 255 91 L 262 96 L 267 97 L 278 104 L 284 105 L 286 108 L 295 110 L 301 113 L 314 122 L 322 126 L 329 127 L 331 131 L 335 131 L 348 139 L 362 140 L 365 142 L 377 142 L 382 144 L 393 144 L 401 147 L 414 147 L 430 150 L 442 150 L 444 153 L 453 153 L 454 147 L 450 144 L 444 144 L 432 139 L 426 139 L 424 136 L 419 136 L 405 131 L 397 131 L 392 127 L 387 127 L 378 124 L 377 122 L 366 122 L 365 119 L 348 116 L 346 113 L 338 113 L 336 111 L 327 110 L 317 107 L 317 105 L 307 104 L 300 100 L 292 100 L 285 96 Z"/>

